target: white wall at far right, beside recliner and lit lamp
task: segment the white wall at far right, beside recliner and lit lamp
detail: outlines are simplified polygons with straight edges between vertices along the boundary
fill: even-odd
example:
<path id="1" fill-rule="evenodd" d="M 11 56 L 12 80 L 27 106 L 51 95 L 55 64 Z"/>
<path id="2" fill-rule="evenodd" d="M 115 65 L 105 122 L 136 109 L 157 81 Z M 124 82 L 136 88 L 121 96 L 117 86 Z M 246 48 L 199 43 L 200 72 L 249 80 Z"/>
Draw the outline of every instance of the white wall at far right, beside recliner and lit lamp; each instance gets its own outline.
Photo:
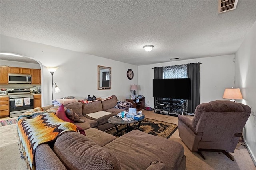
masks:
<path id="1" fill-rule="evenodd" d="M 244 141 L 256 165 L 256 22 L 235 54 L 236 85 L 240 87 L 242 103 L 252 109 L 243 129 Z"/>

